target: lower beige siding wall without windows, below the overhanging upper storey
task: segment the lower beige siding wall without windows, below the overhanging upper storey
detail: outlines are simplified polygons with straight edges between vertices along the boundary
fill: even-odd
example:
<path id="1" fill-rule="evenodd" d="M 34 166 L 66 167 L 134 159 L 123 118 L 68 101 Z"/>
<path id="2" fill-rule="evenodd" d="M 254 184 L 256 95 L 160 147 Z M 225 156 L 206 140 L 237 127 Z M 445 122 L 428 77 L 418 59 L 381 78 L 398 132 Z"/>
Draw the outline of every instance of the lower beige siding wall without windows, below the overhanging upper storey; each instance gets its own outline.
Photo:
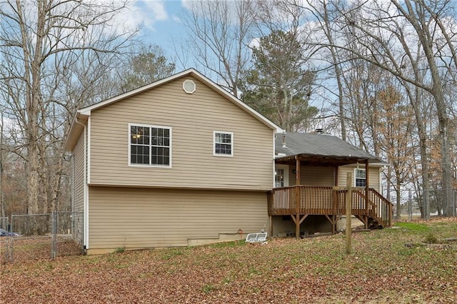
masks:
<path id="1" fill-rule="evenodd" d="M 188 245 L 268 228 L 266 193 L 89 187 L 89 248 Z"/>

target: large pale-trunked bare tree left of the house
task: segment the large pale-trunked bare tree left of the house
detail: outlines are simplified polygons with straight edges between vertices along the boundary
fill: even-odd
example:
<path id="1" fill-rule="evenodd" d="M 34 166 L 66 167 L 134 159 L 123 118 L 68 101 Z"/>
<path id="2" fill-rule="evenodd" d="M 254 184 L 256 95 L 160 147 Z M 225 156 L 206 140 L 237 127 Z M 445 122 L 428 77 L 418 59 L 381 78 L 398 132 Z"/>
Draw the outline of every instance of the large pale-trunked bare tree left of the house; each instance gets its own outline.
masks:
<path id="1" fill-rule="evenodd" d="M 135 31 L 112 27 L 114 16 L 124 8 L 123 2 L 0 2 L 0 89 L 7 96 L 9 118 L 21 130 L 16 153 L 26 163 L 28 213 L 46 211 L 50 208 L 46 202 L 55 201 L 59 191 L 55 184 L 54 193 L 40 185 L 60 181 L 63 151 L 59 144 L 73 114 L 68 111 L 76 107 L 69 106 L 68 96 L 59 94 L 61 86 L 78 77 L 73 69 L 88 54 L 101 68 L 109 62 L 106 57 L 129 46 Z M 52 171 L 58 176 L 45 170 L 49 163 L 56 165 Z"/>

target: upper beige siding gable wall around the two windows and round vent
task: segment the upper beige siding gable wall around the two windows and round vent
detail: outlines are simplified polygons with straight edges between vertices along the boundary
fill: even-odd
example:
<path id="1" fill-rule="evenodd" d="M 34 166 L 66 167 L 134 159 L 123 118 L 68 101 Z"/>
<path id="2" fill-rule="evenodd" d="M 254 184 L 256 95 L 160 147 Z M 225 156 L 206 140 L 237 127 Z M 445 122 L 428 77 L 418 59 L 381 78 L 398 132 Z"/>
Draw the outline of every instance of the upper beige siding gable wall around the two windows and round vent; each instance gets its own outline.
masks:
<path id="1" fill-rule="evenodd" d="M 189 78 L 91 113 L 91 184 L 271 189 L 271 128 L 195 78 L 185 93 Z M 171 168 L 129 166 L 129 123 L 172 128 Z M 213 156 L 214 131 L 233 132 L 233 157 Z"/>

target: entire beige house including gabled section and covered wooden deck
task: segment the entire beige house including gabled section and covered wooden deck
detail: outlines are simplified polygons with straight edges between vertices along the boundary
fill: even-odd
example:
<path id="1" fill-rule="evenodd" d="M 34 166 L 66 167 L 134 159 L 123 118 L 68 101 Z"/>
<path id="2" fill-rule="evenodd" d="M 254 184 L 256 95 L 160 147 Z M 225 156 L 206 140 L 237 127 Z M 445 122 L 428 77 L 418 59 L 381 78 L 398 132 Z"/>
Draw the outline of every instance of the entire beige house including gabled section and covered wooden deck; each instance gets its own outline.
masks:
<path id="1" fill-rule="evenodd" d="M 376 190 L 368 188 L 379 187 L 379 160 L 333 136 L 283 137 L 194 69 L 81 108 L 65 149 L 74 165 L 72 206 L 84 213 L 76 233 L 89 254 L 262 230 L 334 231 L 344 204 L 335 186 L 346 186 L 346 171 L 363 186 L 368 163 L 366 189 L 354 193 L 370 204 L 353 211 L 367 226 L 382 220 L 373 217 L 381 206 L 372 206 Z"/>

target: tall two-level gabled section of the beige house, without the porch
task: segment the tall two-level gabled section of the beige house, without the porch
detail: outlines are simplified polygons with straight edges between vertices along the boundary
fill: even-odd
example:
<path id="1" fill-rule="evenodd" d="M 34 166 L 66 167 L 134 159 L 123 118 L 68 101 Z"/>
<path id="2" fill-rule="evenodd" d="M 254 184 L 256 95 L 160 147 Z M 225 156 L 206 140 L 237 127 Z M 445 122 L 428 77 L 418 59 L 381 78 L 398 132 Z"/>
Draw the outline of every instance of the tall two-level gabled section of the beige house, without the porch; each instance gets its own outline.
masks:
<path id="1" fill-rule="evenodd" d="M 86 252 L 266 230 L 278 131 L 194 69 L 81 108 L 65 148 Z"/>

